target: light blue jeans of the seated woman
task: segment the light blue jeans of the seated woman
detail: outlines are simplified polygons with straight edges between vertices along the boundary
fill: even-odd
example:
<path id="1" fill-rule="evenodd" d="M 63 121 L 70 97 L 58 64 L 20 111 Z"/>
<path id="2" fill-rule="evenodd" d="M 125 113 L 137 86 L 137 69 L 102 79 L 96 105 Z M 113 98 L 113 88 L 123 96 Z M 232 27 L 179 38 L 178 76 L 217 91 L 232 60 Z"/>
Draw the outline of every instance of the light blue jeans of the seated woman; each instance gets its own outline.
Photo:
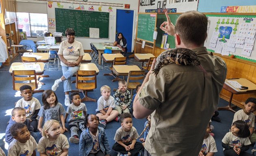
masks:
<path id="1" fill-rule="evenodd" d="M 71 91 L 71 77 L 76 74 L 80 66 L 65 67 L 62 66 L 62 73 L 66 80 L 63 81 L 64 92 Z"/>

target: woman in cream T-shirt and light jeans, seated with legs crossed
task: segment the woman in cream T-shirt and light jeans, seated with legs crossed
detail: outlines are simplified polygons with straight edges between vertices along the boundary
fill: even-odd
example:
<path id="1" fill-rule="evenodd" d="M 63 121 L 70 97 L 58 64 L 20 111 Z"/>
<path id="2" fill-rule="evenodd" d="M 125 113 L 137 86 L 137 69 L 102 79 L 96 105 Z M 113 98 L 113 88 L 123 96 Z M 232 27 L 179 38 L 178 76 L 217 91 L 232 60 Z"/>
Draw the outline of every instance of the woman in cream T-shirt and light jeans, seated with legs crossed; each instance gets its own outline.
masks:
<path id="1" fill-rule="evenodd" d="M 65 31 L 67 40 L 62 41 L 58 56 L 61 59 L 61 66 L 63 76 L 60 79 L 55 80 L 52 85 L 52 90 L 56 91 L 59 87 L 59 83 L 63 82 L 65 92 L 65 106 L 70 105 L 69 91 L 71 91 L 71 77 L 76 74 L 76 71 L 80 67 L 82 57 L 85 55 L 82 43 L 75 41 L 75 31 L 72 28 L 67 28 Z"/>

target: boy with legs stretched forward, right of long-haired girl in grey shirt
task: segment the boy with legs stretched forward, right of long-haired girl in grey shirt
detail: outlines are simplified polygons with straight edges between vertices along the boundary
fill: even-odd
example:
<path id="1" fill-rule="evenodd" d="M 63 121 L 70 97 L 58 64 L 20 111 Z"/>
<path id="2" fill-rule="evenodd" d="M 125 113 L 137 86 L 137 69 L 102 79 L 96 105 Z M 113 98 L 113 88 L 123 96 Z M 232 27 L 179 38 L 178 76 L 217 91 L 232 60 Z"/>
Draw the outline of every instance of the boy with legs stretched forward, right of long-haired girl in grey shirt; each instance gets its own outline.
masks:
<path id="1" fill-rule="evenodd" d="M 85 130 L 85 115 L 87 108 L 84 103 L 81 103 L 81 98 L 78 92 L 74 92 L 70 95 L 72 104 L 67 106 L 67 113 L 65 115 L 65 121 L 69 115 L 68 124 L 71 131 L 70 143 L 79 143 L 78 130 Z"/>

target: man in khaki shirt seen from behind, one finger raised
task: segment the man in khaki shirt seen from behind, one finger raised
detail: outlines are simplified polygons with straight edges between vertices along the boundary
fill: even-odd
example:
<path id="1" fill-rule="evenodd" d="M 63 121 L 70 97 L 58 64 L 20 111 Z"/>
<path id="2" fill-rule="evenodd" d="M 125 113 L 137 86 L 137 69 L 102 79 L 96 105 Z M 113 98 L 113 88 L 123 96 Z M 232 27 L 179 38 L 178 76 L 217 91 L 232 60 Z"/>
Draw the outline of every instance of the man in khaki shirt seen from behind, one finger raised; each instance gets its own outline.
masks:
<path id="1" fill-rule="evenodd" d="M 152 74 L 152 63 L 133 103 L 137 119 L 152 113 L 145 152 L 152 156 L 198 156 L 206 126 L 219 102 L 226 78 L 226 63 L 210 56 L 204 47 L 207 17 L 197 11 L 179 16 L 176 26 L 170 22 L 161 29 L 175 36 L 176 48 L 197 54 L 200 65 L 164 65 Z"/>

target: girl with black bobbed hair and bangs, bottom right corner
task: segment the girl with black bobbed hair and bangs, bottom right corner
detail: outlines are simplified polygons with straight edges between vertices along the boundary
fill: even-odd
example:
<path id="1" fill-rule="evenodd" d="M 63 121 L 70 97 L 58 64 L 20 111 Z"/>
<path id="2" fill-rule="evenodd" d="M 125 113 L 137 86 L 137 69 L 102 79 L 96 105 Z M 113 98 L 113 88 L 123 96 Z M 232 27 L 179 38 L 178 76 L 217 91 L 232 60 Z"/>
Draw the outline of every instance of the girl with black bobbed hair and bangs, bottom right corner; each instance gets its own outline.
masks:
<path id="1" fill-rule="evenodd" d="M 224 138 L 222 139 L 222 147 L 225 156 L 252 156 L 246 153 L 251 144 L 249 140 L 250 131 L 245 121 L 234 121 Z"/>

